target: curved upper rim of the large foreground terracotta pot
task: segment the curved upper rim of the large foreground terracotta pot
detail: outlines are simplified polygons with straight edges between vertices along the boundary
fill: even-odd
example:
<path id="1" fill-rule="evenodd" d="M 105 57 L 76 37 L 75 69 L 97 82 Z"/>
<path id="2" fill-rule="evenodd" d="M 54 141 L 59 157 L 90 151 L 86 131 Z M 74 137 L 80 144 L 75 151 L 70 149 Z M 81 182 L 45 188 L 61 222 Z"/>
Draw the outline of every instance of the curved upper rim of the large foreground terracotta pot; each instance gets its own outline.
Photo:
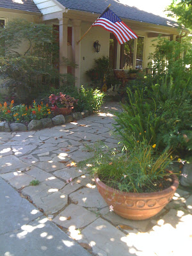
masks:
<path id="1" fill-rule="evenodd" d="M 134 197 L 137 198 L 138 195 L 142 196 L 143 198 L 148 197 L 148 195 L 150 195 L 151 197 L 159 197 L 159 196 L 163 196 L 164 193 L 171 193 L 171 192 L 173 192 L 179 186 L 179 179 L 177 178 L 177 176 L 175 174 L 172 174 L 171 177 L 173 178 L 173 184 L 169 188 L 163 189 L 162 191 L 156 191 L 156 192 L 147 192 L 147 193 L 144 193 L 144 192 L 140 193 L 139 192 L 139 193 L 135 193 L 135 192 L 124 192 L 124 191 L 120 191 L 118 189 L 111 188 L 111 187 L 107 186 L 106 184 L 104 184 L 104 182 L 102 182 L 99 179 L 97 173 L 94 174 L 95 183 L 99 184 L 99 186 L 102 187 L 103 189 L 107 189 L 109 191 L 109 193 L 110 192 L 114 193 L 114 191 L 115 191 L 115 193 L 117 193 L 119 195 L 122 195 L 122 196 L 132 196 L 133 198 Z"/>

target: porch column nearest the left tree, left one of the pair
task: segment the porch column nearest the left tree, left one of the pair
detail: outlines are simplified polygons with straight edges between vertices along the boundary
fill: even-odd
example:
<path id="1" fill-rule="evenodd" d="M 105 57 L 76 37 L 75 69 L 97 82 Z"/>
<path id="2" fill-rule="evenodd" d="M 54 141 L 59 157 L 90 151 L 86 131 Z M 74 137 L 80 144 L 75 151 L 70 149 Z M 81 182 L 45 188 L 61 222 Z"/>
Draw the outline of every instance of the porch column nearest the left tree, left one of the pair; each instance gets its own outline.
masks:
<path id="1" fill-rule="evenodd" d="M 60 18 L 60 74 L 67 73 L 67 66 L 63 63 L 63 57 L 67 58 L 67 24 L 68 18 Z"/>

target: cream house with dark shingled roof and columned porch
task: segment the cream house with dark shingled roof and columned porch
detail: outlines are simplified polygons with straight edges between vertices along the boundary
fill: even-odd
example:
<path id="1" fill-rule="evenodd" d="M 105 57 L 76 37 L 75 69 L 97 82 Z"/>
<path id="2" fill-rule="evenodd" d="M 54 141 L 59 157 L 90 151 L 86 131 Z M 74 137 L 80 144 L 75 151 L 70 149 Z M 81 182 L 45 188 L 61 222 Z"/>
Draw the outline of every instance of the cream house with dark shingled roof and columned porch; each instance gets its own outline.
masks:
<path id="1" fill-rule="evenodd" d="M 115 36 L 100 27 L 92 26 L 108 5 L 138 39 L 119 45 Z M 175 40 L 179 36 L 177 24 L 136 7 L 120 3 L 118 0 L 1 0 L 0 26 L 9 20 L 22 18 L 33 22 L 52 24 L 60 33 L 60 72 L 72 72 L 77 77 L 76 86 L 88 81 L 86 70 L 93 67 L 94 59 L 109 56 L 115 69 L 145 69 L 148 56 L 154 51 L 152 42 L 159 34 Z M 100 51 L 95 52 L 93 43 L 99 41 Z M 78 68 L 70 70 L 62 64 L 62 58 L 75 61 Z"/>

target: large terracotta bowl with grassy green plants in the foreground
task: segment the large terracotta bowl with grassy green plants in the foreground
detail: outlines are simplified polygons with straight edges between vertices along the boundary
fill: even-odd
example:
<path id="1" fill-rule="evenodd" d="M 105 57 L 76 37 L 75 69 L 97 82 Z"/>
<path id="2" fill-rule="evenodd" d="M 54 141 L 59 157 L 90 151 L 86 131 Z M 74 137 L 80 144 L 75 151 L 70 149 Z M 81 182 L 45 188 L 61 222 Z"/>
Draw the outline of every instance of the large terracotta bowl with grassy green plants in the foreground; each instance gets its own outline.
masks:
<path id="1" fill-rule="evenodd" d="M 179 180 L 168 171 L 170 151 L 155 154 L 156 145 L 136 141 L 129 153 L 94 148 L 91 166 L 97 189 L 116 214 L 130 220 L 145 220 L 170 202 Z M 86 163 L 87 164 L 87 163 Z"/>

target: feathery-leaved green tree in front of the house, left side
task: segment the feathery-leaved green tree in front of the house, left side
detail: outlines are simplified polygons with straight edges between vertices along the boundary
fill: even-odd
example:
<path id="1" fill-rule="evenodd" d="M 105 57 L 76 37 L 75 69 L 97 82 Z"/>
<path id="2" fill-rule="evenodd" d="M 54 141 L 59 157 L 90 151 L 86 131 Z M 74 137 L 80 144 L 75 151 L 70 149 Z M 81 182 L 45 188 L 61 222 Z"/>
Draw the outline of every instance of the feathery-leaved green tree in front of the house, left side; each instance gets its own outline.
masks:
<path id="1" fill-rule="evenodd" d="M 29 102 L 59 79 L 52 26 L 13 20 L 0 28 L 0 78 L 19 102 Z"/>

